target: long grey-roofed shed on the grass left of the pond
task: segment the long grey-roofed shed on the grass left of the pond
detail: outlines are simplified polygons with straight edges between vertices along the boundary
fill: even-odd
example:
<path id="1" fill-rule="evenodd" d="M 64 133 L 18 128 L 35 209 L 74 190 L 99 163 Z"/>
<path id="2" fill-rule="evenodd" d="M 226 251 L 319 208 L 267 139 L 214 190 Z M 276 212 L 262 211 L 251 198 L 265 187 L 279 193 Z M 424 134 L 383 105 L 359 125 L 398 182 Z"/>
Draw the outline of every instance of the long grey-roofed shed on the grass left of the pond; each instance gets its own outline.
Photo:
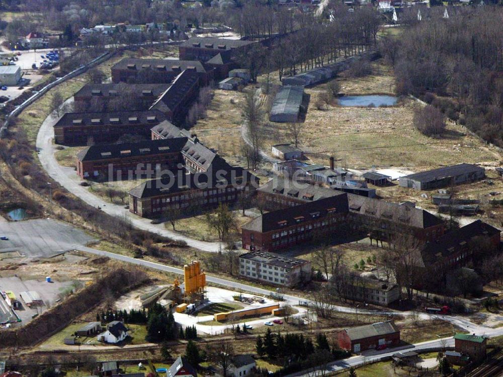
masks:
<path id="1" fill-rule="evenodd" d="M 298 121 L 304 88 L 287 85 L 274 98 L 269 120 L 271 122 L 295 123 Z"/>

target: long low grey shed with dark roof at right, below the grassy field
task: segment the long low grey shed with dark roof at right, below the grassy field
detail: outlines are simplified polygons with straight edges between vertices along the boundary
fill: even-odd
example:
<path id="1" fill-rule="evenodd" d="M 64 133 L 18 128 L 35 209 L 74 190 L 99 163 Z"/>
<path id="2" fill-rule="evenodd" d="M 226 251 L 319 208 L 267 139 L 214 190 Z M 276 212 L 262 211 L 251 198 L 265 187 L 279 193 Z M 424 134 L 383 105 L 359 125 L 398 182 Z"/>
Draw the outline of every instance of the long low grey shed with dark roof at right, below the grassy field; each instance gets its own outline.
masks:
<path id="1" fill-rule="evenodd" d="M 400 177 L 400 186 L 415 190 L 430 190 L 483 178 L 485 178 L 484 168 L 472 164 L 459 164 Z"/>

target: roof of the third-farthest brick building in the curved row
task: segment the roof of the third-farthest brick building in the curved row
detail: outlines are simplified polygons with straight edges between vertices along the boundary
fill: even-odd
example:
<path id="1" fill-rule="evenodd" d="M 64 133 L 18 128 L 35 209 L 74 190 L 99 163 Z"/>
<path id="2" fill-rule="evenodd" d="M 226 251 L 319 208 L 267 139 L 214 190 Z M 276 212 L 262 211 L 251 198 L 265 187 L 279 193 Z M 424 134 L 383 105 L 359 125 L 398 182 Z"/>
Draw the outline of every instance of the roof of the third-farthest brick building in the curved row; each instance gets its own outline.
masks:
<path id="1" fill-rule="evenodd" d="M 121 95 L 121 92 L 128 91 L 138 95 L 138 97 L 151 97 L 154 99 L 164 93 L 172 84 L 86 84 L 80 88 L 74 97 L 114 97 Z"/>

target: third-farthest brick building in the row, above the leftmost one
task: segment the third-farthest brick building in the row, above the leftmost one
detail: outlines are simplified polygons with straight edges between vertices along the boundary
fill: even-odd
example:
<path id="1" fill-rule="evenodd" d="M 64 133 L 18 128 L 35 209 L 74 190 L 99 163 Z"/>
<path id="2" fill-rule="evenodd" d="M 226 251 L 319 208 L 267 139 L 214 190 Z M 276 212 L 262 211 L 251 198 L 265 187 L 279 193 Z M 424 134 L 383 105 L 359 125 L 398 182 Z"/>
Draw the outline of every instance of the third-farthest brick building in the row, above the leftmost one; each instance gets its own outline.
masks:
<path id="1" fill-rule="evenodd" d="M 132 108 L 128 110 L 148 110 L 154 101 L 171 84 L 86 84 L 73 95 L 75 107 L 80 111 L 109 111 L 109 104 L 124 96 L 131 96 Z"/>

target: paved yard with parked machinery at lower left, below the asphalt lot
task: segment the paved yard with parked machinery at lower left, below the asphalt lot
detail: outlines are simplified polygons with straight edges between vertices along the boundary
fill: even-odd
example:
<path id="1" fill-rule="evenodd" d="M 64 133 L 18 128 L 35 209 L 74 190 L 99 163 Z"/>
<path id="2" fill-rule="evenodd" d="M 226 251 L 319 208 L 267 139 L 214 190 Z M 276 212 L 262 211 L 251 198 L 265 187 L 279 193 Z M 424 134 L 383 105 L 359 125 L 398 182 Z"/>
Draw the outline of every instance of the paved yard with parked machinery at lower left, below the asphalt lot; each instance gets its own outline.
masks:
<path id="1" fill-rule="evenodd" d="M 21 303 L 21 307 L 16 309 L 15 312 L 21 318 L 21 325 L 26 324 L 31 321 L 33 316 L 36 314 L 42 314 L 50 307 L 54 306 L 58 299 L 58 293 L 60 293 L 64 288 L 70 286 L 71 281 L 52 281 L 50 283 L 46 281 L 39 280 L 21 280 L 17 276 L 13 277 L 0 277 L 0 290 L 6 291 L 11 290 L 16 295 L 17 300 Z M 36 291 L 44 304 L 42 306 L 36 306 L 28 308 L 26 303 L 22 300 L 20 292 L 23 291 Z M 6 305 L 3 299 L 0 299 L 0 314 L 2 312 L 2 301 Z M 4 310 L 6 310 L 4 305 Z"/>

